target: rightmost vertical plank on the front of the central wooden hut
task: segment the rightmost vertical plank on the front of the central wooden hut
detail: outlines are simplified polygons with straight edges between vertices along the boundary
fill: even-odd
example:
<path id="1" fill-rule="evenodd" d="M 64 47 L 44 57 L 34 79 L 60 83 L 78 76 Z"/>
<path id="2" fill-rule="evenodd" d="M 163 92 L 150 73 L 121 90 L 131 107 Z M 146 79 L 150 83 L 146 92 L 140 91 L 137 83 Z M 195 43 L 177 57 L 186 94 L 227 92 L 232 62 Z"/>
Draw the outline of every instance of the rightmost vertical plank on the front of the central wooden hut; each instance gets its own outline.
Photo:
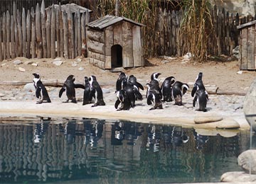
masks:
<path id="1" fill-rule="evenodd" d="M 142 67 L 142 38 L 139 26 L 132 28 L 132 53 L 134 67 Z"/>

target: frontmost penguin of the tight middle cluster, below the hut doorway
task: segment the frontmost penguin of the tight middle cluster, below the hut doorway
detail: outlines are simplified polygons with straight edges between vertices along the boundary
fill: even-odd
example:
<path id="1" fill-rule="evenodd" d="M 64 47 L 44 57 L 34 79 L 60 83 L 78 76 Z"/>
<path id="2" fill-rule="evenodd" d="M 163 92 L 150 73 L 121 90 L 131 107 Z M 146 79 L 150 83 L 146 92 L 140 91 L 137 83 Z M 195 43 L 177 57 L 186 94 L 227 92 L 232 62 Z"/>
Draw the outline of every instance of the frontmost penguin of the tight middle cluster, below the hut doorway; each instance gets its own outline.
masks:
<path id="1" fill-rule="evenodd" d="M 121 89 L 121 90 L 117 91 L 116 95 L 117 95 L 117 100 L 114 103 L 114 108 L 117 109 L 118 105 L 121 103 L 121 107 L 117 110 L 129 110 L 129 108 L 131 108 L 131 106 L 132 106 L 132 103 L 129 100 L 125 91 Z"/>

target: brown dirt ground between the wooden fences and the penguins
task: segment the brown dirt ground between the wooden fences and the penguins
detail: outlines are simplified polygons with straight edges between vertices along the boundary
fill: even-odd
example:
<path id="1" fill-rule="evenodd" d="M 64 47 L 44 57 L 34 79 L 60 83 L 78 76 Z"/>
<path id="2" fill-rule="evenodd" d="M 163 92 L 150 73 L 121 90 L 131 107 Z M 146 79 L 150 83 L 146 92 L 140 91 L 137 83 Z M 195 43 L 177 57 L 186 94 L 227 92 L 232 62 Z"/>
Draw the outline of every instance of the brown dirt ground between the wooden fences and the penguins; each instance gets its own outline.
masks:
<path id="1" fill-rule="evenodd" d="M 193 83 L 199 71 L 203 72 L 204 84 L 218 86 L 221 91 L 230 91 L 234 93 L 246 93 L 250 84 L 256 77 L 255 71 L 242 71 L 239 74 L 238 60 L 228 61 L 228 58 L 221 58 L 218 61 L 208 61 L 204 63 L 195 63 L 192 61 L 182 61 L 183 57 L 173 59 L 151 58 L 146 60 L 145 67 L 129 68 L 123 71 L 137 77 L 142 85 L 146 86 L 150 76 L 154 72 L 160 72 L 160 84 L 168 76 L 174 76 L 177 81 L 184 83 Z M 20 60 L 21 64 L 14 64 L 15 60 Z M 95 75 L 97 81 L 102 85 L 115 85 L 118 78 L 117 72 L 102 70 L 92 66 L 86 58 L 61 59 L 63 64 L 56 66 L 54 59 L 26 59 L 18 57 L 13 60 L 4 60 L 0 62 L 0 84 L 4 81 L 27 81 L 32 82 L 32 73 L 41 74 L 42 80 L 58 79 L 64 82 L 69 74 L 75 76 L 77 83 L 82 83 L 84 76 Z M 32 64 L 33 63 L 33 64 Z M 37 66 L 36 66 L 37 65 Z M 19 71 L 23 68 L 25 71 Z M 21 86 L 4 86 L 0 89 L 21 88 Z"/>

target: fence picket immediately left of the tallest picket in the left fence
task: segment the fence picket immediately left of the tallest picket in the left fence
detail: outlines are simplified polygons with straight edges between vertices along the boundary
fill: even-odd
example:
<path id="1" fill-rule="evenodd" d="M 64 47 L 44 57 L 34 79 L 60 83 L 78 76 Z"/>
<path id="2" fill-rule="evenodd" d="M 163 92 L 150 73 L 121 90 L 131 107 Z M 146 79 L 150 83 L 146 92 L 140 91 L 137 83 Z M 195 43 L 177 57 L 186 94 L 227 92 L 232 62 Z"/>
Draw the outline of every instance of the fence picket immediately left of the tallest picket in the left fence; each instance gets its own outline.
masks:
<path id="1" fill-rule="evenodd" d="M 36 45 L 37 45 L 37 58 L 43 57 L 43 42 L 41 34 L 41 12 L 39 4 L 36 4 Z"/>

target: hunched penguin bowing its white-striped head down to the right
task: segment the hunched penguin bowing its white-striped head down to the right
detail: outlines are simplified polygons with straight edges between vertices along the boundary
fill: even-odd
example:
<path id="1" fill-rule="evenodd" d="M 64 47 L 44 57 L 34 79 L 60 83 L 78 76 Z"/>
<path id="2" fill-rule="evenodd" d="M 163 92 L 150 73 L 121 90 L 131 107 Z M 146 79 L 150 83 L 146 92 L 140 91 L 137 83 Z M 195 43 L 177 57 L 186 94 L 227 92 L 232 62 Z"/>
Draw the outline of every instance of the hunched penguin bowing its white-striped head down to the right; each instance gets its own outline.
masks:
<path id="1" fill-rule="evenodd" d="M 182 96 L 188 91 L 188 84 L 184 84 L 181 81 L 176 81 L 172 86 L 172 97 L 174 98 L 175 105 L 183 105 Z"/>

